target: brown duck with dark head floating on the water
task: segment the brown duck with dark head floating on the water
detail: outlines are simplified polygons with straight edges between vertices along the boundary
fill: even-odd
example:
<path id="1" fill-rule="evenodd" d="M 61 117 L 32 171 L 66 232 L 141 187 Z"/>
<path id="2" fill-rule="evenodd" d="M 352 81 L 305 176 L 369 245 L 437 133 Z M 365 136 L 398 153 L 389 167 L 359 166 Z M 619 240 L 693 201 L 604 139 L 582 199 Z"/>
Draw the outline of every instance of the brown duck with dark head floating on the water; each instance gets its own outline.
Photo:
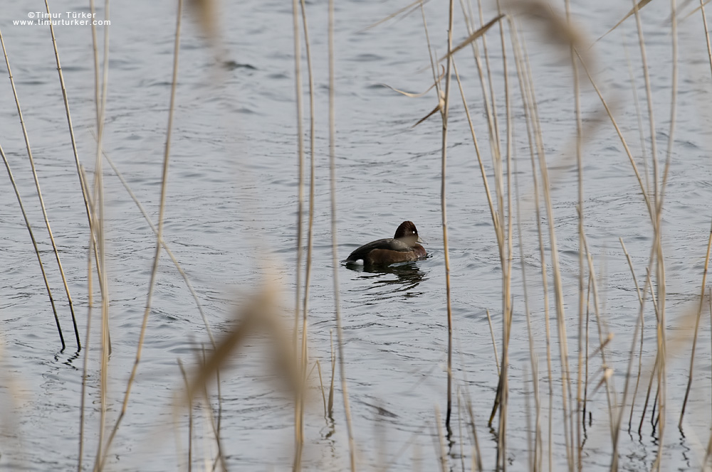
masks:
<path id="1" fill-rule="evenodd" d="M 396 262 L 417 261 L 424 259 L 428 253 L 419 245 L 423 242 L 418 235 L 418 229 L 412 221 L 404 221 L 393 237 L 376 240 L 362 245 L 349 254 L 345 262 L 357 264 L 363 261 L 365 266 L 389 265 Z"/>

